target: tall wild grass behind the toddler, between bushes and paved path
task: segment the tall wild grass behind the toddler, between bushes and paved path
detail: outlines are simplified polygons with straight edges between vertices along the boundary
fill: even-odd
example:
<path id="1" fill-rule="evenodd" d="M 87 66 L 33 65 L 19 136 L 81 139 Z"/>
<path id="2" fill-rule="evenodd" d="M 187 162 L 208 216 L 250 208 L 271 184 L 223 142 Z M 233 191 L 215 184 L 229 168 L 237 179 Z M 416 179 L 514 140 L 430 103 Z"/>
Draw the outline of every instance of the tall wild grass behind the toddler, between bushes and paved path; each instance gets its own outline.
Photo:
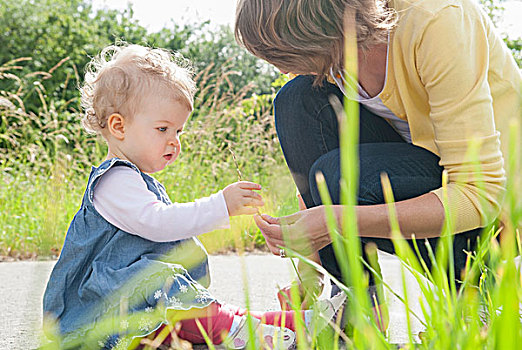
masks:
<path id="1" fill-rule="evenodd" d="M 55 100 L 43 84 L 27 84 L 28 77 L 19 72 L 28 60 L 0 66 L 0 79 L 13 83 L 12 91 L 0 91 L 0 256 L 15 259 L 59 254 L 91 166 L 100 164 L 107 151 L 100 137 L 82 130 L 77 99 Z M 63 60 L 31 76 L 46 79 L 66 64 Z M 239 167 L 244 180 L 263 186 L 264 212 L 289 214 L 297 210 L 295 188 L 273 127 L 273 95 L 252 94 L 253 86 L 226 92 L 233 90 L 225 87 L 234 74 L 224 65 L 216 73 L 208 67 L 197 75 L 199 91 L 181 137 L 183 152 L 155 176 L 173 201 L 187 202 L 237 181 Z M 68 84 L 79 85 L 78 75 L 63 85 Z M 37 112 L 24 106 L 25 96 L 34 91 L 40 96 Z M 205 234 L 202 241 L 210 252 L 230 251 L 237 249 L 236 236 L 247 250 L 263 248 L 264 239 L 248 217 L 233 218 L 232 230 Z"/>

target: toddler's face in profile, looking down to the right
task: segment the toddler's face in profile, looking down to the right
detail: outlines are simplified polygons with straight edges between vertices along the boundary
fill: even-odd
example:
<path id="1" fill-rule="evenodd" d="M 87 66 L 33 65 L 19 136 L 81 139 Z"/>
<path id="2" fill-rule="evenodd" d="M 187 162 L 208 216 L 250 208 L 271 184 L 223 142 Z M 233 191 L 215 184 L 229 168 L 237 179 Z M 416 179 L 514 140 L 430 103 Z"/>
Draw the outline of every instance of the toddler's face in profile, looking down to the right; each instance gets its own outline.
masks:
<path id="1" fill-rule="evenodd" d="M 127 120 L 120 150 L 144 173 L 163 170 L 181 152 L 179 135 L 190 111 L 162 94 L 143 97 L 140 110 Z"/>

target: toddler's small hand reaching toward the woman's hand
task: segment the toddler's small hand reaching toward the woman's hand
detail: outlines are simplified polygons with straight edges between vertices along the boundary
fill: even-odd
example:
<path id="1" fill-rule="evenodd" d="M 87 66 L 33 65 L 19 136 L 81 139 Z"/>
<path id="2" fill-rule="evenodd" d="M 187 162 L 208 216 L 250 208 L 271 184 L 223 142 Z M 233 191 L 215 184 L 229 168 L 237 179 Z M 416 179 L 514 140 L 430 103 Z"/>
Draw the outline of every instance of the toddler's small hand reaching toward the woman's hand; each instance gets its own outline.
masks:
<path id="1" fill-rule="evenodd" d="M 265 205 L 263 197 L 253 190 L 260 190 L 261 185 L 248 181 L 239 181 L 228 185 L 223 190 L 227 203 L 228 215 L 256 214 L 257 208 Z"/>

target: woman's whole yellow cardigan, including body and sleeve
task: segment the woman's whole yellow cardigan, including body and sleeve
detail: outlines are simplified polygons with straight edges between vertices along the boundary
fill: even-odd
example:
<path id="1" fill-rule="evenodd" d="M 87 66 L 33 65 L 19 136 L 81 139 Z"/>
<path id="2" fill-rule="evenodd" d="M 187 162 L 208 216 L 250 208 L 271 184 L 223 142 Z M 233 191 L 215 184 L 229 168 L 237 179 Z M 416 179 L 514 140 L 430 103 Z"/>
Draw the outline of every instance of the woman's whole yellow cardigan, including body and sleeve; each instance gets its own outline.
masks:
<path id="1" fill-rule="evenodd" d="M 485 226 L 498 216 L 505 194 L 502 153 L 510 120 L 521 117 L 521 72 L 471 0 L 395 0 L 391 6 L 399 20 L 381 99 L 408 121 L 413 144 L 440 157 L 455 232 Z M 481 172 L 468 155 L 473 139 L 480 142 Z M 443 201 L 442 188 L 432 192 Z"/>

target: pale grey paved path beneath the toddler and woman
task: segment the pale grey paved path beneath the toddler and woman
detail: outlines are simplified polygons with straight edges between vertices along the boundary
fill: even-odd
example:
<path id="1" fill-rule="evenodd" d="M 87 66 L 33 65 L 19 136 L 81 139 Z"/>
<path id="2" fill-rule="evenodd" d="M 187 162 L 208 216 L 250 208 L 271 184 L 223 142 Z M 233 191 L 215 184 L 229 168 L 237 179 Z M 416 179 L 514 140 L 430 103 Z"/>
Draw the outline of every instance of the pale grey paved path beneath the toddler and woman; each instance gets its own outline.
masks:
<path id="1" fill-rule="evenodd" d="M 399 262 L 388 254 L 380 254 L 382 273 L 394 291 L 400 294 Z M 0 263 L 0 349 L 35 349 L 39 343 L 42 321 L 42 296 L 54 261 Z M 212 284 L 210 291 L 223 302 L 245 306 L 248 285 L 253 310 L 277 310 L 277 286 L 284 286 L 294 276 L 288 259 L 272 255 L 217 255 L 210 257 Z M 244 267 L 244 268 L 243 268 Z M 246 281 L 244 274 L 246 271 Z M 419 290 L 408 276 L 410 300 L 418 300 Z M 325 291 L 326 293 L 327 291 Z M 389 340 L 407 341 L 404 307 L 387 293 L 390 307 Z M 414 305 L 420 312 L 420 307 Z M 412 329 L 418 332 L 420 323 L 413 319 Z"/>

